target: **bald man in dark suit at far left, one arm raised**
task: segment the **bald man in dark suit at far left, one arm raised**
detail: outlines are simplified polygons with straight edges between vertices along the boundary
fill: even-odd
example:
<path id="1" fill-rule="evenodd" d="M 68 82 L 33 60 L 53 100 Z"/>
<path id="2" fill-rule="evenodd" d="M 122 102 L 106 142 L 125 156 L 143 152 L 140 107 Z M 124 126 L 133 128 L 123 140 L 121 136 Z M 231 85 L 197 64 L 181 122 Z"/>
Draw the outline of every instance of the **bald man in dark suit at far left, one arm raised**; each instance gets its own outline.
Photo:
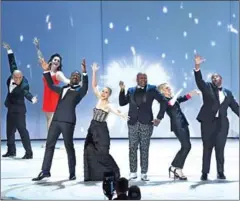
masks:
<path id="1" fill-rule="evenodd" d="M 7 50 L 11 75 L 7 79 L 8 94 L 5 100 L 7 107 L 7 153 L 2 157 L 16 156 L 15 133 L 18 130 L 23 147 L 26 151 L 22 159 L 32 159 L 33 152 L 30 143 L 29 133 L 26 128 L 26 106 L 24 97 L 35 104 L 37 98 L 29 92 L 28 80 L 18 70 L 12 49 L 7 43 L 3 43 Z"/>

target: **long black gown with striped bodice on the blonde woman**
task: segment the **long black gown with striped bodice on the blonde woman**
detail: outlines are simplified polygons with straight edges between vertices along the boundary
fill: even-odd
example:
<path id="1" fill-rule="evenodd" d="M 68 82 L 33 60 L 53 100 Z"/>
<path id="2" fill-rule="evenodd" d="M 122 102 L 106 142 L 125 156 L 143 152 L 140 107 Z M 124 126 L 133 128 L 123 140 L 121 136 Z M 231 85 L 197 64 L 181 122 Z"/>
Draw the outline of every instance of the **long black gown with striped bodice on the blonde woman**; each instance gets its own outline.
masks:
<path id="1" fill-rule="evenodd" d="M 120 170 L 109 154 L 110 136 L 106 123 L 108 112 L 93 109 L 93 119 L 84 145 L 84 181 L 103 181 L 104 172 L 115 173 L 120 177 Z"/>

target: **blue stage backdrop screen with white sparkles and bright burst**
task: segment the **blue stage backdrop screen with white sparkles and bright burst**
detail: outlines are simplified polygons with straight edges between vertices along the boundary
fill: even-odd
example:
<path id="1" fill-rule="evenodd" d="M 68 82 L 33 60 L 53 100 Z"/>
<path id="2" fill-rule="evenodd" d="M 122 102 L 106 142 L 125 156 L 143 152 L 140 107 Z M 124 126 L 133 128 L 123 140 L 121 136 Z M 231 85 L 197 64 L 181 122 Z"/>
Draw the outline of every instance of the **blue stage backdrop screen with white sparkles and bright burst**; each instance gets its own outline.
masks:
<path id="1" fill-rule="evenodd" d="M 18 68 L 27 77 L 30 91 L 38 103 L 26 100 L 27 128 L 32 139 L 47 136 L 46 117 L 42 112 L 43 80 L 33 38 L 40 39 L 40 49 L 48 60 L 54 53 L 63 57 L 63 73 L 69 77 L 81 70 L 86 58 L 89 91 L 77 106 L 75 138 L 85 138 L 97 100 L 91 89 L 91 64 L 97 62 L 99 89 L 113 90 L 111 104 L 118 104 L 119 81 L 126 88 L 136 86 L 136 74 L 145 72 L 149 84 L 169 83 L 174 92 L 184 95 L 196 89 L 193 75 L 194 54 L 205 57 L 203 77 L 213 72 L 223 76 L 224 87 L 239 101 L 239 2 L 210 1 L 42 1 L 2 3 L 2 41 L 10 44 Z M 6 139 L 4 100 L 10 76 L 7 52 L 1 51 L 1 138 Z M 200 137 L 196 116 L 202 97 L 181 105 L 191 137 Z M 154 116 L 160 106 L 153 104 Z M 229 110 L 230 137 L 239 136 L 239 123 Z M 112 138 L 127 138 L 127 122 L 110 114 L 108 126 Z M 169 118 L 154 129 L 154 137 L 174 137 Z M 19 138 L 19 135 L 16 135 Z"/>

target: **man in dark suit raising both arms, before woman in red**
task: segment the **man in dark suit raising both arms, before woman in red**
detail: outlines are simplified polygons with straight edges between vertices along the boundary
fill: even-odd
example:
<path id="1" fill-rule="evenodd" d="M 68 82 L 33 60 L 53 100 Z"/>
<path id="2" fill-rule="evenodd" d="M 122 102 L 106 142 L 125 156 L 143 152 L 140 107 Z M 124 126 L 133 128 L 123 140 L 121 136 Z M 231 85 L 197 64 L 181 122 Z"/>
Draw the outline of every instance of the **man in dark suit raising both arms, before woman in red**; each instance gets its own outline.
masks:
<path id="1" fill-rule="evenodd" d="M 73 134 L 76 124 L 76 106 L 80 103 L 82 98 L 87 94 L 88 91 L 88 76 L 86 73 L 86 63 L 85 60 L 82 62 L 82 73 L 83 82 L 82 87 L 80 87 L 81 73 L 79 71 L 74 71 L 70 77 L 70 84 L 64 87 L 55 86 L 53 84 L 51 74 L 47 70 L 49 69 L 49 64 L 45 61 L 42 62 L 42 67 L 45 70 L 44 77 L 47 80 L 49 88 L 58 93 L 59 100 L 57 104 L 56 111 L 53 115 L 52 123 L 49 127 L 46 149 L 44 160 L 42 164 L 42 171 L 38 177 L 34 178 L 33 181 L 42 180 L 45 177 L 50 177 L 50 169 L 52 165 L 53 154 L 55 150 L 55 145 L 60 134 L 63 135 L 64 145 L 68 155 L 68 166 L 69 166 L 69 180 L 75 180 L 75 166 L 76 166 L 76 156 L 73 144 Z"/>

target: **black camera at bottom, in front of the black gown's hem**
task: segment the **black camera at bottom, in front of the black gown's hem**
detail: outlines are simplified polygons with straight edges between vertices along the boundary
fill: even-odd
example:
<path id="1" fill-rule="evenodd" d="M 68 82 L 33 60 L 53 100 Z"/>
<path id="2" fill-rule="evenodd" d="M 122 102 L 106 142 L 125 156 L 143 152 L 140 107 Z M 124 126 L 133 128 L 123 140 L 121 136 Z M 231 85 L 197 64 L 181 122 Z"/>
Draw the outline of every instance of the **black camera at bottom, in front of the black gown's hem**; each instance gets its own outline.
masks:
<path id="1" fill-rule="evenodd" d="M 104 172 L 103 175 L 103 193 L 109 199 L 112 200 L 116 185 L 116 178 L 114 172 Z"/>

